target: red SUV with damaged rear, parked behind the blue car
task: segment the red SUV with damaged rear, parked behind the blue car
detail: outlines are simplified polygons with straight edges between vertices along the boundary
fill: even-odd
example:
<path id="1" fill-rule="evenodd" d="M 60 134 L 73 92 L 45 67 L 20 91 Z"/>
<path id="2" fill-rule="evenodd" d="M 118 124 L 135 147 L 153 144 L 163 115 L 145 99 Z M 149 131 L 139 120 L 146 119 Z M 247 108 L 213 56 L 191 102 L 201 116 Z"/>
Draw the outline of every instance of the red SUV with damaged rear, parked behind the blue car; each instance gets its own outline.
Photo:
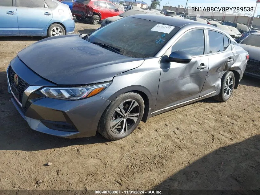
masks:
<path id="1" fill-rule="evenodd" d="M 77 20 L 89 21 L 90 24 L 98 24 L 100 20 L 123 13 L 112 2 L 106 0 L 76 0 L 71 12 Z"/>

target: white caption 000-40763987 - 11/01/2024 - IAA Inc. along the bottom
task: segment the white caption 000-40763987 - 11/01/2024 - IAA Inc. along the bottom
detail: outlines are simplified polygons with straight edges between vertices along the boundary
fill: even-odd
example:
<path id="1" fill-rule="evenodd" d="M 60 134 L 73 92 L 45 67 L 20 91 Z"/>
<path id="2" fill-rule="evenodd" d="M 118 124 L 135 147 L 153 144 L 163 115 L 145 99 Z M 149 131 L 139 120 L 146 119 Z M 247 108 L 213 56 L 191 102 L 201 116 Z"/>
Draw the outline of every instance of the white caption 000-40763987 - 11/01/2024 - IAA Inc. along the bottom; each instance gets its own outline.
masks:
<path id="1" fill-rule="evenodd" d="M 95 190 L 95 194 L 162 194 L 160 190 Z"/>

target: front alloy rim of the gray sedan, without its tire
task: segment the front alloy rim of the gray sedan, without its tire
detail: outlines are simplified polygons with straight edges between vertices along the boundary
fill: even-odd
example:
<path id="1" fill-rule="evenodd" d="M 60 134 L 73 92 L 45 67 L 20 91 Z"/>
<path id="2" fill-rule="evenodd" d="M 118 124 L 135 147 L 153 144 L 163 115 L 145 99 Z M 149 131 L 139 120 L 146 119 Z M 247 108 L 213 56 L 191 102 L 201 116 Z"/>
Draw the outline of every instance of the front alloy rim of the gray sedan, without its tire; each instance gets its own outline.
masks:
<path id="1" fill-rule="evenodd" d="M 115 134 L 126 133 L 134 126 L 140 114 L 139 104 L 135 100 L 121 103 L 112 114 L 110 128 Z"/>

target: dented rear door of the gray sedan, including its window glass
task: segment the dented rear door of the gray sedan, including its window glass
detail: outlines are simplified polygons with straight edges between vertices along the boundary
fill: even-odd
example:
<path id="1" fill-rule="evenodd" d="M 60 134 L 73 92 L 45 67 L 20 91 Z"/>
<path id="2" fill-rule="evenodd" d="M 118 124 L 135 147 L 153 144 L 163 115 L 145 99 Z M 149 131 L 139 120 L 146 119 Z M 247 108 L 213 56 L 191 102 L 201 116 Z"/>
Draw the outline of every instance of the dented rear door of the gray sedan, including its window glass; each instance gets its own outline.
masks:
<path id="1" fill-rule="evenodd" d="M 230 39 L 215 30 L 207 30 L 209 47 L 209 72 L 201 96 L 217 91 L 226 67 L 231 67 L 234 60 Z"/>

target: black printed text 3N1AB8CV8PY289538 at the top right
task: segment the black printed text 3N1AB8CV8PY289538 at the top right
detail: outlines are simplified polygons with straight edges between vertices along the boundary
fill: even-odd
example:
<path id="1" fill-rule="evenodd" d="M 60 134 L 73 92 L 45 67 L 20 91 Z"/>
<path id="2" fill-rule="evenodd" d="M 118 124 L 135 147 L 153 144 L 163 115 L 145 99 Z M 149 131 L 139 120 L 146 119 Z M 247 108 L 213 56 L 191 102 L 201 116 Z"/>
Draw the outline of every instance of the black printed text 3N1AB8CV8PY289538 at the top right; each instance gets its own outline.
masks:
<path id="1" fill-rule="evenodd" d="M 192 7 L 191 11 L 254 11 L 254 7 Z"/>

